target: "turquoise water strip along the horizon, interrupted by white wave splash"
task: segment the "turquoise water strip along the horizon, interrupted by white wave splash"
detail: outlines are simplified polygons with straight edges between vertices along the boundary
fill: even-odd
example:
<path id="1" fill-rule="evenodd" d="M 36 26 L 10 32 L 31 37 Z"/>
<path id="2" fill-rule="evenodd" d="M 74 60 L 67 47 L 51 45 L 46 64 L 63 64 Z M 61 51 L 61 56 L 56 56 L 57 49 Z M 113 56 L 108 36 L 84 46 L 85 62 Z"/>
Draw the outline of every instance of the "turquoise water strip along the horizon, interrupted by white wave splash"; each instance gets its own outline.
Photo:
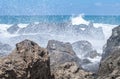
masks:
<path id="1" fill-rule="evenodd" d="M 0 16 L 0 24 L 18 24 L 31 22 L 68 22 L 72 15 L 47 15 L 47 16 Z M 85 15 L 83 18 L 94 23 L 120 24 L 120 16 L 94 16 Z"/>

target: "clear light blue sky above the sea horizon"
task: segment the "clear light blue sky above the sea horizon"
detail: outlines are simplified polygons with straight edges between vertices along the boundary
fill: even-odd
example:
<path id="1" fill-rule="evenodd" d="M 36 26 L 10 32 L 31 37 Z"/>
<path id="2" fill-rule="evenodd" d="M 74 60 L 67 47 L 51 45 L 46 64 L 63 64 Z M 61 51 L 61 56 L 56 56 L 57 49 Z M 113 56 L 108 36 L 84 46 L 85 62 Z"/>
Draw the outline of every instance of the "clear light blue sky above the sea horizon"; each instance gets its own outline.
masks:
<path id="1" fill-rule="evenodd" d="M 0 15 L 120 15 L 120 0 L 0 0 Z"/>

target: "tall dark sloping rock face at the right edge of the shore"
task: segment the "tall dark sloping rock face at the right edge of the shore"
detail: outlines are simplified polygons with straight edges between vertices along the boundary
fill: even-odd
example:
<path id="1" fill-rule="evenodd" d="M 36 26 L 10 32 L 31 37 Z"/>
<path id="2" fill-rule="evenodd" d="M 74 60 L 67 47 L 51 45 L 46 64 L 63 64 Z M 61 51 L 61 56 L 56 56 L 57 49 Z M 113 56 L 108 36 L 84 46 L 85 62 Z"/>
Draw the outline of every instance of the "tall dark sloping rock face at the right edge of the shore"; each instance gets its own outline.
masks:
<path id="1" fill-rule="evenodd" d="M 98 79 L 120 79 L 120 26 L 107 41 L 98 75 Z"/>

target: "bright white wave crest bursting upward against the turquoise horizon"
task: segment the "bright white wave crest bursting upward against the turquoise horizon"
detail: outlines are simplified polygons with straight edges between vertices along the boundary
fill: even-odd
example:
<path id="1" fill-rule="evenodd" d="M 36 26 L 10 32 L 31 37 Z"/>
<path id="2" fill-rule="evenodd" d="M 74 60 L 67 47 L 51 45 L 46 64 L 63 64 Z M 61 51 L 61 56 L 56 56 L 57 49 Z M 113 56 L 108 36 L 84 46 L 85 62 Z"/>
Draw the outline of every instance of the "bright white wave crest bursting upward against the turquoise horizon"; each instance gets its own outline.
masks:
<path id="1" fill-rule="evenodd" d="M 79 24 L 89 24 L 89 21 L 83 19 L 84 14 L 80 14 L 77 17 L 72 17 L 72 25 L 79 25 Z"/>

